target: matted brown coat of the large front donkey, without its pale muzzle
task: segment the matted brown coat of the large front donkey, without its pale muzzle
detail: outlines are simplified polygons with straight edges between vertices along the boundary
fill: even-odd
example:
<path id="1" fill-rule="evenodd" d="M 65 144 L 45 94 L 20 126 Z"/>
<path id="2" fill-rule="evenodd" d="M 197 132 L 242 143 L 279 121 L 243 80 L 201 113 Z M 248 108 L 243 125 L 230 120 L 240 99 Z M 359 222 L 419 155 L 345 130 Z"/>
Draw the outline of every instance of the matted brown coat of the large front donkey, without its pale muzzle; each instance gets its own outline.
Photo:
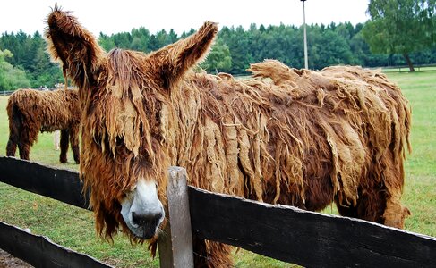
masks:
<path id="1" fill-rule="evenodd" d="M 121 227 L 137 240 L 120 200 L 143 176 L 165 205 L 170 165 L 186 168 L 196 187 L 308 210 L 336 202 L 340 214 L 403 227 L 410 109 L 380 72 L 266 61 L 251 66 L 259 80 L 235 80 L 190 71 L 215 23 L 151 54 L 106 54 L 57 8 L 47 23 L 50 54 L 80 88 L 81 178 L 107 239 Z M 193 241 L 196 266 L 232 265 L 229 247 Z"/>

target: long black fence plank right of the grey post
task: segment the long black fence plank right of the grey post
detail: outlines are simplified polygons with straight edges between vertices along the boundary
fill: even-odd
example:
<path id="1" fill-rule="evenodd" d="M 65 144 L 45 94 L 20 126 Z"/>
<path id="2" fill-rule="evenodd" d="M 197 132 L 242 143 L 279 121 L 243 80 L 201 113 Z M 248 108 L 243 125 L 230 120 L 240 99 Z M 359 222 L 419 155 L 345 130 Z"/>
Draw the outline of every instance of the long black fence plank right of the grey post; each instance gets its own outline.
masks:
<path id="1" fill-rule="evenodd" d="M 192 233 L 315 267 L 436 267 L 436 239 L 189 188 Z"/>

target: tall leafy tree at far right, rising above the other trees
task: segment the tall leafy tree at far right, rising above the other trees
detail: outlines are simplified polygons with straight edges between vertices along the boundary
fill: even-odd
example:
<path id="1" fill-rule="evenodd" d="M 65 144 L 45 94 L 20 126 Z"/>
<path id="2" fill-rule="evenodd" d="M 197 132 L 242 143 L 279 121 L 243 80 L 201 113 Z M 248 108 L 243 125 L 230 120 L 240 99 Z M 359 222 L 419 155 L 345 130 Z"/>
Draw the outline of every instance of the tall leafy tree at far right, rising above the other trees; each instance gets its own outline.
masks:
<path id="1" fill-rule="evenodd" d="M 434 0 L 371 0 L 363 36 L 372 52 L 402 54 L 414 71 L 410 54 L 435 45 L 435 12 Z"/>

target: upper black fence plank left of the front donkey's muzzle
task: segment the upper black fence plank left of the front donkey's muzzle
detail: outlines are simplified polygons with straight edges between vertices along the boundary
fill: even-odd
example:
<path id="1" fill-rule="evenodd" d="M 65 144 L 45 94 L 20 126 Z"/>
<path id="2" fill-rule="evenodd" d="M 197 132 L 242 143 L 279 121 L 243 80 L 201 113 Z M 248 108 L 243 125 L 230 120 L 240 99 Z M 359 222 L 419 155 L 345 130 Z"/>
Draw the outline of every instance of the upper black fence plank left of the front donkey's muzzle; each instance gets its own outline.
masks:
<path id="1" fill-rule="evenodd" d="M 79 173 L 40 163 L 0 156 L 0 181 L 66 204 L 88 209 L 89 197 L 81 193 Z"/>

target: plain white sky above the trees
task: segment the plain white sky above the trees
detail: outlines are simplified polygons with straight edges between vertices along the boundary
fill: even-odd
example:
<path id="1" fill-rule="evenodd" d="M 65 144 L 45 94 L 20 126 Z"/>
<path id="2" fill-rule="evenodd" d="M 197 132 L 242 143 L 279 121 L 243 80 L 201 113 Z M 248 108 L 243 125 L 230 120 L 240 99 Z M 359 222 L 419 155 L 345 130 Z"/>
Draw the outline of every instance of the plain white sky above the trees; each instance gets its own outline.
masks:
<path id="1" fill-rule="evenodd" d="M 94 35 L 131 31 L 141 26 L 151 34 L 159 29 L 175 29 L 177 34 L 198 29 L 204 21 L 219 26 L 239 26 L 248 29 L 251 23 L 259 27 L 303 24 L 303 2 L 300 0 L 3 0 L 0 4 L 0 34 L 42 33 L 44 20 L 55 5 L 73 11 L 81 25 Z M 369 19 L 369 0 L 307 0 L 308 24 L 349 21 L 354 25 Z"/>

